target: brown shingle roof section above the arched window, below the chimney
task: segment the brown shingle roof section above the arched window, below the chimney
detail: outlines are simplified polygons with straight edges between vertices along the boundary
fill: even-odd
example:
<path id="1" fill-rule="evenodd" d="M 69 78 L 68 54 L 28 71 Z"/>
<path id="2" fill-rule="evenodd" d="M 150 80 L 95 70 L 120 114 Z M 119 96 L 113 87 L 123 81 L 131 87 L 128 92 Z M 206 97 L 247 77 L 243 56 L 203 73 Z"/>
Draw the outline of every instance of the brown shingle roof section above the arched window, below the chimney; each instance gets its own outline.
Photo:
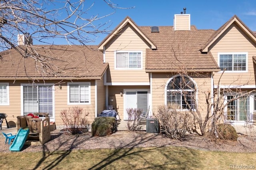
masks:
<path id="1" fill-rule="evenodd" d="M 211 53 L 201 53 L 200 48 L 215 32 L 212 29 L 174 31 L 172 26 L 160 26 L 151 33 L 149 26 L 140 29 L 157 45 L 157 50 L 146 50 L 146 71 L 168 70 L 219 70 Z"/>

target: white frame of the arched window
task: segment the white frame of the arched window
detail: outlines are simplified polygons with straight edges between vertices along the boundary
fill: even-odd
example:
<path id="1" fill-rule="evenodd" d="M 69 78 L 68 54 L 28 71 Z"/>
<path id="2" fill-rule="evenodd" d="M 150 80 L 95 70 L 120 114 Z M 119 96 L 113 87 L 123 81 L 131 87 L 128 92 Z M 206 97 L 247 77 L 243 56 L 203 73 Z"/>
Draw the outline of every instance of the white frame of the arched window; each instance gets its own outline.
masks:
<path id="1" fill-rule="evenodd" d="M 195 90 L 194 90 L 194 93 L 196 95 L 196 104 L 195 104 L 195 107 L 198 106 L 198 87 L 197 87 L 197 84 L 195 82 L 195 80 L 193 78 L 191 78 L 190 76 L 186 76 L 186 75 L 180 75 L 180 74 L 177 74 L 175 76 L 172 76 L 171 78 L 169 78 L 169 80 L 166 82 L 166 85 L 165 85 L 165 88 L 164 88 L 164 105 L 167 106 L 167 92 L 181 92 L 181 90 L 167 90 L 167 86 L 169 84 L 169 82 L 173 79 L 173 78 L 176 78 L 178 76 L 184 76 L 184 77 L 188 77 L 195 85 Z M 192 92 L 193 90 L 190 90 L 190 89 L 187 89 L 187 90 L 184 90 L 184 91 L 190 91 Z M 182 109 L 182 99 L 181 99 L 181 109 L 179 109 L 179 111 L 187 111 L 188 109 Z M 195 109 L 192 109 L 192 111 L 196 111 L 196 108 Z"/>

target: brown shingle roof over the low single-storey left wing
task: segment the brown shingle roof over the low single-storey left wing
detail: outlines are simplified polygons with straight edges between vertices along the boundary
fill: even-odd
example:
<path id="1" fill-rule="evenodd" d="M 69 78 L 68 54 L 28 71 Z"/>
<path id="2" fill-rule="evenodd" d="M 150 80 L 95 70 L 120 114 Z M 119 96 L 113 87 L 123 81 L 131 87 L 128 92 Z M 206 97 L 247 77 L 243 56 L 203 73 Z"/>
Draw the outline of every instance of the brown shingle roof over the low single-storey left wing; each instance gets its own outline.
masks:
<path id="1" fill-rule="evenodd" d="M 97 46 L 33 45 L 49 68 L 32 57 L 24 58 L 15 49 L 1 52 L 0 78 L 88 78 L 100 79 L 108 67 Z M 21 49 L 23 46 L 18 46 Z M 44 58 L 48 56 L 48 58 Z M 36 70 L 38 68 L 38 71 Z M 51 69 L 54 72 L 51 71 Z"/>

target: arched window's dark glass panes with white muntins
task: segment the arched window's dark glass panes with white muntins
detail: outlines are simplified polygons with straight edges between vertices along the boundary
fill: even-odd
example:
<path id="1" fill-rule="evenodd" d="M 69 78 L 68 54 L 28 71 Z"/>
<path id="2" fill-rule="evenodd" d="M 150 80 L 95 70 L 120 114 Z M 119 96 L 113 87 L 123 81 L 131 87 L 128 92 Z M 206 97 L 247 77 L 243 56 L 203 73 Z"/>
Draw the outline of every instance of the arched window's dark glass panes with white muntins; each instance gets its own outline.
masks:
<path id="1" fill-rule="evenodd" d="M 167 105 L 176 104 L 180 109 L 195 109 L 195 84 L 190 78 L 176 76 L 170 80 L 166 90 Z"/>

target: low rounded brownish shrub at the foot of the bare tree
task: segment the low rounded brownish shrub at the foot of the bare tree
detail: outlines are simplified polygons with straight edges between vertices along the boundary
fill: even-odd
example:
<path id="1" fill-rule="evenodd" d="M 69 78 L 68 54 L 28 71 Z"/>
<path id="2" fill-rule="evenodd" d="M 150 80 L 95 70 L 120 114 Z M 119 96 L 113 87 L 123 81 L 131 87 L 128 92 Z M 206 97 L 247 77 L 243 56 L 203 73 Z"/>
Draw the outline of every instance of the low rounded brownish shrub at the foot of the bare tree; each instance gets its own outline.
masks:
<path id="1" fill-rule="evenodd" d="M 237 140 L 238 135 L 236 133 L 236 129 L 232 125 L 219 124 L 217 127 L 217 131 L 219 139 L 231 141 Z"/>

